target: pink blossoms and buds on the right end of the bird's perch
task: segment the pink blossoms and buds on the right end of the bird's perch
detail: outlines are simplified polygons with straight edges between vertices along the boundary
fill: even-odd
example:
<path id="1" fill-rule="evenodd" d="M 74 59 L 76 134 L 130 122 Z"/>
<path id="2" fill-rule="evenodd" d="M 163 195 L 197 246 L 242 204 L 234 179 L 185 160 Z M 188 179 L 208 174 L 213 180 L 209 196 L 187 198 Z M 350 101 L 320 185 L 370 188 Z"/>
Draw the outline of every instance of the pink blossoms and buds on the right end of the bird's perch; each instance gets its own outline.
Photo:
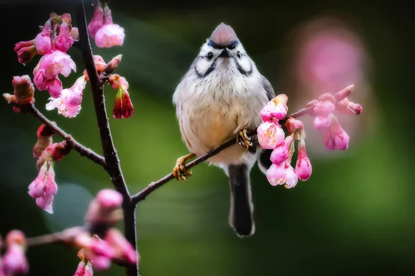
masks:
<path id="1" fill-rule="evenodd" d="M 353 86 L 349 86 L 335 95 L 326 93 L 306 105 L 308 114 L 315 117 L 315 129 L 324 132 L 324 146 L 329 150 L 336 148 L 345 150 L 349 146 L 349 135 L 340 126 L 333 112 L 337 110 L 346 115 L 360 115 L 362 112 L 362 106 L 347 99 L 351 90 L 353 90 Z M 273 150 L 270 155 L 270 161 L 273 164 L 266 172 L 268 182 L 272 186 L 284 184 L 285 188 L 293 188 L 297 185 L 298 180 L 309 179 L 313 168 L 306 152 L 304 124 L 293 117 L 286 119 L 287 101 L 286 95 L 278 95 L 262 108 L 259 112 L 262 124 L 257 128 L 257 135 L 262 148 Z M 280 120 L 286 120 L 284 126 L 288 131 L 287 136 L 279 124 Z M 291 160 L 295 152 L 295 140 L 298 141 L 298 153 L 297 162 L 293 168 Z"/>

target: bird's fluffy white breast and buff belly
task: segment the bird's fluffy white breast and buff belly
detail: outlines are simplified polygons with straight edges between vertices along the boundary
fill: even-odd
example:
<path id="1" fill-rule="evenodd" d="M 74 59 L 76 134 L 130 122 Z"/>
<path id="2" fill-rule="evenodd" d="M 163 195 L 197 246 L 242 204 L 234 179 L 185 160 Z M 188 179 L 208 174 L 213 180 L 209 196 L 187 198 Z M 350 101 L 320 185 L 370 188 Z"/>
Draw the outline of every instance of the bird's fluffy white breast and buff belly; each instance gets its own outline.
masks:
<path id="1" fill-rule="evenodd" d="M 183 140 L 198 156 L 236 137 L 243 128 L 259 126 L 259 111 L 268 102 L 259 74 L 249 78 L 219 74 L 188 77 L 174 93 Z M 238 164 L 245 158 L 244 152 L 242 146 L 234 145 L 209 161 Z"/>

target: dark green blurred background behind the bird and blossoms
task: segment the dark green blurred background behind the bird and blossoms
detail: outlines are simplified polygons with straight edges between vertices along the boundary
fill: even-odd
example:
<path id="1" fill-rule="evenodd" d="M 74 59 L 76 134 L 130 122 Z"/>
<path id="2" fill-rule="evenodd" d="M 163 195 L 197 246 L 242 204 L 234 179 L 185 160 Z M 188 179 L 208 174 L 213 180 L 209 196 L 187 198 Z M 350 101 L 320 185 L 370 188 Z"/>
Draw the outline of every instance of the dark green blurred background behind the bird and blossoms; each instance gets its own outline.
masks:
<path id="1" fill-rule="evenodd" d="M 39 59 L 22 66 L 13 52 L 15 43 L 33 39 L 49 12 L 73 13 L 73 4 L 1 2 L 2 92 L 12 92 L 12 76 L 31 75 Z M 172 181 L 142 201 L 136 213 L 142 275 L 414 275 L 414 21 L 408 6 L 400 1 L 120 0 L 110 7 L 114 21 L 125 28 L 124 45 L 94 51 L 105 61 L 123 54 L 117 72 L 129 81 L 135 113 L 130 119 L 109 121 L 131 193 L 166 175 L 176 158 L 187 153 L 172 94 L 201 44 L 222 21 L 234 28 L 259 70 L 296 108 L 312 99 L 304 86 L 296 86 L 291 70 L 293 38 L 304 24 L 327 15 L 349 23 L 365 45 L 369 64 L 361 82 L 365 93 L 363 86 L 356 87 L 351 96 L 361 100 L 364 112 L 353 121 L 358 128 L 350 133 L 346 152 L 322 154 L 321 133 L 308 122 L 308 132 L 317 137 L 308 146 L 311 179 L 286 190 L 270 186 L 256 166 L 252 170 L 253 237 L 239 239 L 228 226 L 228 180 L 213 166 L 197 166 L 184 183 Z M 63 79 L 65 87 L 84 70 L 77 49 L 68 53 L 77 73 Z M 44 110 L 48 93 L 35 96 L 37 107 Z M 109 111 L 114 98 L 115 91 L 107 88 Z M 100 152 L 89 88 L 74 119 L 55 110 L 44 112 Z M 104 170 L 72 152 L 55 166 L 55 213 L 39 210 L 27 194 L 37 175 L 32 148 L 39 121 L 13 113 L 5 101 L 0 101 L 0 115 L 1 235 L 19 228 L 35 236 L 82 224 L 95 193 L 111 187 Z M 30 248 L 28 257 L 30 275 L 73 275 L 78 263 L 76 251 L 62 245 Z M 122 274 L 116 265 L 96 273 Z"/>

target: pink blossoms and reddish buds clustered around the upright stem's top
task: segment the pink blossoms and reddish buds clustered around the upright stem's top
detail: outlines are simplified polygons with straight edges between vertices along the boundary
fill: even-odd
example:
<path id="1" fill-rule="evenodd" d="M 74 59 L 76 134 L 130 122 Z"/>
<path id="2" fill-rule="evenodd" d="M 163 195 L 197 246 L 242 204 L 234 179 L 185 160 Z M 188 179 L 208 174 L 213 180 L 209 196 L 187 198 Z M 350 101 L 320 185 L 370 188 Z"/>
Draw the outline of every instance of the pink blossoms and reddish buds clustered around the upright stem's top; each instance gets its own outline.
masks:
<path id="1" fill-rule="evenodd" d="M 101 3 L 100 1 L 96 3 L 93 19 L 91 19 L 88 29 L 89 34 L 95 39 L 95 43 L 100 48 L 121 46 L 124 42 L 124 28 L 113 23 L 111 10 L 107 3 Z M 46 110 L 57 109 L 58 114 L 69 118 L 73 118 L 80 113 L 83 91 L 86 82 L 89 81 L 86 71 L 81 77 L 77 78 L 71 88 L 64 89 L 62 81 L 59 79 L 59 75 L 68 77 L 71 71 L 77 71 L 75 62 L 66 53 L 77 39 L 79 39 L 79 33 L 77 28 L 72 26 L 71 14 L 58 15 L 52 12 L 48 21 L 44 26 L 41 26 L 41 32 L 37 34 L 35 39 L 21 41 L 15 46 L 17 58 L 24 65 L 28 64 L 35 55 L 42 56 L 33 70 L 33 82 L 38 90 L 47 90 L 50 94 L 50 101 L 46 104 Z M 122 55 L 118 55 L 107 64 L 102 57 L 94 56 L 98 74 L 105 72 L 107 82 L 118 90 L 113 108 L 113 117 L 116 119 L 128 118 L 133 115 L 133 105 L 127 91 L 127 80 L 119 75 L 111 75 L 120 63 L 121 57 Z M 20 78 L 24 79 L 13 79 L 13 87 L 15 87 L 15 82 L 18 83 L 19 81 L 30 83 L 28 75 Z M 26 89 L 26 91 L 29 90 Z M 6 99 L 9 103 L 17 105 L 14 107 L 15 112 L 19 112 L 19 104 L 34 102 L 34 92 L 32 86 L 30 93 L 27 92 L 23 99 L 17 97 L 16 92 L 14 95 L 17 97 L 16 99 L 14 97 Z M 19 92 L 17 94 L 21 95 Z M 19 104 L 17 104 L 17 101 L 19 101 Z"/>

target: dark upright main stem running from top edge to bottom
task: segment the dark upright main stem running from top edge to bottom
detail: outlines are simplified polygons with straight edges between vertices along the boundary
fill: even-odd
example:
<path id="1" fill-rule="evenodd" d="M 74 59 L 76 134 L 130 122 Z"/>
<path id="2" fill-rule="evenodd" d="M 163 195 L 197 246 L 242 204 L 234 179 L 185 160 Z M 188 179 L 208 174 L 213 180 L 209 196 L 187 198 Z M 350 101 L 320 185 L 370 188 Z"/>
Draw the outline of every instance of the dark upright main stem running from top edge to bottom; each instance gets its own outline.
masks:
<path id="1" fill-rule="evenodd" d="M 114 188 L 123 197 L 122 212 L 124 213 L 124 235 L 133 248 L 136 249 L 136 206 L 131 204 L 129 190 L 120 167 L 120 159 L 118 158 L 116 148 L 113 144 L 113 138 L 109 128 L 107 109 L 105 108 L 104 83 L 98 76 L 93 62 L 93 53 L 91 43 L 89 41 L 83 0 L 77 1 L 76 13 L 78 30 L 80 33 L 79 48 L 81 49 L 82 59 L 84 60 L 86 72 L 88 73 L 91 84 L 95 114 L 97 117 L 98 128 L 100 129 L 102 151 L 107 164 L 105 169 L 111 177 Z M 128 266 L 126 268 L 126 273 L 127 276 L 139 275 L 138 265 L 135 264 L 133 266 Z"/>

